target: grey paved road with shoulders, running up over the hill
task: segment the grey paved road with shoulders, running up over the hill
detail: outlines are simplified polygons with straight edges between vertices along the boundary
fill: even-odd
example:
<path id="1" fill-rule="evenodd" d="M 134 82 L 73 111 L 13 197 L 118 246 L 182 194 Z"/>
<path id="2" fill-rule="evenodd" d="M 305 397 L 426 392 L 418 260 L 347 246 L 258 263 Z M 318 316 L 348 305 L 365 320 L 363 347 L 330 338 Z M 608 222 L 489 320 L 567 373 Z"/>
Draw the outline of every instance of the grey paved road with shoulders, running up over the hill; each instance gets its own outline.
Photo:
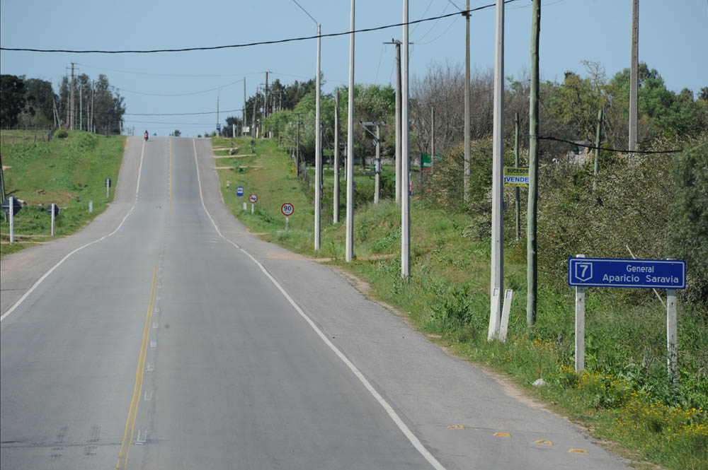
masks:
<path id="1" fill-rule="evenodd" d="M 31 291 L 23 256 L 49 255 L 4 260 L 3 292 L 28 294 L 0 326 L 1 469 L 627 468 L 249 235 L 209 141 L 130 139 L 125 158 L 93 233 L 113 235 Z"/>

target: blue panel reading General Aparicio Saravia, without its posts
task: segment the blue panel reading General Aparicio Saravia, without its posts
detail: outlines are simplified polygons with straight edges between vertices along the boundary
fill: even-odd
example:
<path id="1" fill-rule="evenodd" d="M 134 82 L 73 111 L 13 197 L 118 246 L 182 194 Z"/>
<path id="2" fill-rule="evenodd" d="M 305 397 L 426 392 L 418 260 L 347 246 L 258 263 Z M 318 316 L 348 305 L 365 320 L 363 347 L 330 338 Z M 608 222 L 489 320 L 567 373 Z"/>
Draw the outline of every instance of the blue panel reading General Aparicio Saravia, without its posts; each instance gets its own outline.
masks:
<path id="1" fill-rule="evenodd" d="M 569 258 L 568 285 L 685 289 L 686 262 L 677 259 Z"/>

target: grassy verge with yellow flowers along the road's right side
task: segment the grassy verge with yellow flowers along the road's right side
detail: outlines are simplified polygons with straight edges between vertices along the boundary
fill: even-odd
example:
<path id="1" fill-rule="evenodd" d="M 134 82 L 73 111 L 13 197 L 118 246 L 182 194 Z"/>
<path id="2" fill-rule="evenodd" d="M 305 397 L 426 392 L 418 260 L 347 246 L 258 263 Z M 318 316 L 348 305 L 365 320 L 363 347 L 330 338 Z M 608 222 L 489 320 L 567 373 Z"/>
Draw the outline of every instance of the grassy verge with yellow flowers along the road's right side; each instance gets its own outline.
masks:
<path id="1" fill-rule="evenodd" d="M 250 153 L 249 139 L 212 142 L 215 148 L 233 145 L 240 153 Z M 490 244 L 470 233 L 475 229 L 469 216 L 426 204 L 418 196 L 411 198 L 411 281 L 406 282 L 400 276 L 400 209 L 390 199 L 378 205 L 370 202 L 369 176 L 355 175 L 359 191 L 355 260 L 344 263 L 346 200 L 341 198 L 341 223 L 332 224 L 331 168 L 324 168 L 321 249 L 314 252 L 314 175 L 309 174 L 308 189 L 295 177 L 290 158 L 270 141 L 257 141 L 256 153 L 256 157 L 216 160 L 217 166 L 229 167 L 218 170 L 224 201 L 251 231 L 295 252 L 330 258 L 330 264 L 366 281 L 371 298 L 406 312 L 413 327 L 432 341 L 461 358 L 506 373 L 527 394 L 544 399 L 550 409 L 580 423 L 636 466 L 708 469 L 708 380 L 703 372 L 708 365 L 708 312 L 704 305 L 679 307 L 681 380 L 678 387 L 670 387 L 666 310 L 661 302 L 648 297 L 634 302 L 622 290 L 589 290 L 586 372 L 576 375 L 571 288 L 539 288 L 537 326 L 526 327 L 525 240 L 505 245 L 505 288 L 515 290 L 508 339 L 488 342 Z M 239 185 L 244 186 L 242 198 L 236 196 Z M 243 201 L 251 192 L 259 198 L 253 216 L 250 205 L 243 211 Z M 286 201 L 295 205 L 287 233 L 280 213 Z M 510 226 L 512 221 L 506 223 Z M 552 285 L 548 281 L 541 274 L 539 286 Z M 539 378 L 547 385 L 532 387 Z"/>

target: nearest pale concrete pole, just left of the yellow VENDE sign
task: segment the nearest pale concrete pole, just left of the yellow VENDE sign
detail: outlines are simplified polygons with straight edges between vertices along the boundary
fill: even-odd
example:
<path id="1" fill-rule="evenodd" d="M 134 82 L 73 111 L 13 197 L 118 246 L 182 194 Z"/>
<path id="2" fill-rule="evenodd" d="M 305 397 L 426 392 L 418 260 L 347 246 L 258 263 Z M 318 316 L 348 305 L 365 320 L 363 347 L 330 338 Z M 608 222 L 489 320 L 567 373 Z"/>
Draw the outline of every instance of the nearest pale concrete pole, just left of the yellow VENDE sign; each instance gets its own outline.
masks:
<path id="1" fill-rule="evenodd" d="M 491 201 L 491 293 L 504 292 L 504 0 L 496 0 L 496 41 L 494 48 L 494 129 Z M 503 295 L 491 295 L 491 313 L 500 324 Z"/>

